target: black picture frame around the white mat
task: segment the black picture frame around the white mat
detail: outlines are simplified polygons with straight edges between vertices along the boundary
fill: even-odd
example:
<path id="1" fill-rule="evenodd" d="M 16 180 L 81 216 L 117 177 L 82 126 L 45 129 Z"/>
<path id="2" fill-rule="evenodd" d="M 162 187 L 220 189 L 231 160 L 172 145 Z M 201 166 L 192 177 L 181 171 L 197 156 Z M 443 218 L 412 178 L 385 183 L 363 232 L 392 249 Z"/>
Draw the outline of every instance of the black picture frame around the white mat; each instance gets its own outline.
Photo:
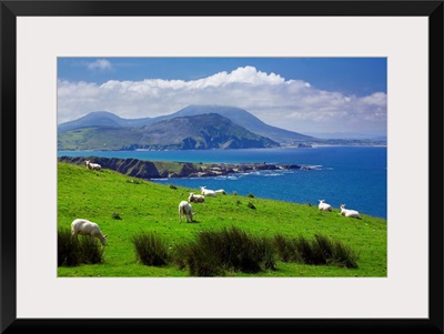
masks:
<path id="1" fill-rule="evenodd" d="M 1 1 L 1 332 L 443 333 L 443 1 Z M 16 84 L 20 16 L 428 18 L 428 318 L 17 318 Z M 4 163 L 8 162 L 8 163 Z M 406 292 L 408 293 L 408 292 Z"/>

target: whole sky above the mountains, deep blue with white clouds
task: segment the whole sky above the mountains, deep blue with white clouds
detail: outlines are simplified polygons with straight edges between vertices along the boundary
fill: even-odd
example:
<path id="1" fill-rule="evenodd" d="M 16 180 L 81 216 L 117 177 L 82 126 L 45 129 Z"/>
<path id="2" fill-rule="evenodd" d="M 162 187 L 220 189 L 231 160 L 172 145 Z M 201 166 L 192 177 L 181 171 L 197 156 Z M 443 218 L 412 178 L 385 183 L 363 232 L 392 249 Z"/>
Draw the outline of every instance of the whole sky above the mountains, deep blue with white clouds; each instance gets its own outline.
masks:
<path id="1" fill-rule="evenodd" d="M 59 58 L 59 123 L 189 104 L 240 107 L 301 133 L 386 133 L 385 58 Z"/>

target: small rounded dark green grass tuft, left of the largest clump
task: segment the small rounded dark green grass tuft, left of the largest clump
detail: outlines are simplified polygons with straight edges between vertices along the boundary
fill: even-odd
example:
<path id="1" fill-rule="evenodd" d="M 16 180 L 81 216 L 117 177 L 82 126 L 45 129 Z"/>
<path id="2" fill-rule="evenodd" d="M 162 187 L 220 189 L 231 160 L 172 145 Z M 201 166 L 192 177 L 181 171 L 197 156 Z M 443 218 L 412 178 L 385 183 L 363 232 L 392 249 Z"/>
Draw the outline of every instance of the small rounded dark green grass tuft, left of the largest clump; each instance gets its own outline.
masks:
<path id="1" fill-rule="evenodd" d="M 144 265 L 162 266 L 169 262 L 168 246 L 154 232 L 143 232 L 132 237 L 135 254 Z"/>

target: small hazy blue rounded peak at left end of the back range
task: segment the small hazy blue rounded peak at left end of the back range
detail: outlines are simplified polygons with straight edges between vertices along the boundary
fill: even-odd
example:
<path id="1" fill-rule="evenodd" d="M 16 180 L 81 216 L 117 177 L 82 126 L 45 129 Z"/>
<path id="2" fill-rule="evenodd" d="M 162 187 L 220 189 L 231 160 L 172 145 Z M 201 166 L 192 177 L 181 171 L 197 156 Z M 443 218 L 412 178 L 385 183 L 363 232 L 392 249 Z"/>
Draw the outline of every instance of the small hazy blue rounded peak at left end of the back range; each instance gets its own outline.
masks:
<path id="1" fill-rule="evenodd" d="M 74 121 L 61 123 L 58 126 L 59 132 L 81 129 L 81 128 L 121 128 L 121 126 L 143 126 L 152 123 L 152 119 L 122 119 L 108 111 L 94 111 Z"/>

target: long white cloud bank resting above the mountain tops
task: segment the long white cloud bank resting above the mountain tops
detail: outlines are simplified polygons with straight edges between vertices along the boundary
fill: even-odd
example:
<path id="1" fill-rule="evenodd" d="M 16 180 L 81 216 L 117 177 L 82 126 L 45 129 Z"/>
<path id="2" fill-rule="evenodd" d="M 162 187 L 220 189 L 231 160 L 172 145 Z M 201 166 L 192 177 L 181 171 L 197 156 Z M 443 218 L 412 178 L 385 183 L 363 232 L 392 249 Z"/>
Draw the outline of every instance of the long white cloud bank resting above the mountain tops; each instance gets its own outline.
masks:
<path id="1" fill-rule="evenodd" d="M 239 107 L 264 122 L 296 132 L 385 133 L 386 94 L 344 95 L 323 91 L 302 80 L 285 80 L 253 67 L 183 81 L 145 79 L 91 82 L 59 81 L 59 123 L 92 111 L 122 118 L 173 113 L 190 104 Z"/>

